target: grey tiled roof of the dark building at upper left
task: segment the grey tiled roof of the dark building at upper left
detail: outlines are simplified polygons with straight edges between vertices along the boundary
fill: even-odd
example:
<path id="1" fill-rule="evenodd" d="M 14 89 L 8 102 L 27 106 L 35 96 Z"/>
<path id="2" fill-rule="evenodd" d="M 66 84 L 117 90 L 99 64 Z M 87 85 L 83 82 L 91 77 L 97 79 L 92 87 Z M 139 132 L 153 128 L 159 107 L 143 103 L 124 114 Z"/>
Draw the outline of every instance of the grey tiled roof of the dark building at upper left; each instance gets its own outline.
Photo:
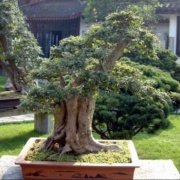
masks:
<path id="1" fill-rule="evenodd" d="M 79 0 L 41 0 L 21 6 L 28 20 L 72 19 L 82 11 Z"/>

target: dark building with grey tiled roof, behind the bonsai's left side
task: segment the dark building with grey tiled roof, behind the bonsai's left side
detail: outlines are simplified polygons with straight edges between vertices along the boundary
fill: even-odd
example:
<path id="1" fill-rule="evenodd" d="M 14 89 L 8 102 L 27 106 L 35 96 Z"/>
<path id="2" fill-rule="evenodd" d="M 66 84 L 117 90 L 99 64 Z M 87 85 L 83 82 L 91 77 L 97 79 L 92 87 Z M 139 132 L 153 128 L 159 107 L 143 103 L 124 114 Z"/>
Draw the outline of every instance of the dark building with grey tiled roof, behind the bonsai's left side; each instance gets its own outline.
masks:
<path id="1" fill-rule="evenodd" d="M 19 0 L 19 5 L 46 57 L 61 39 L 80 34 L 80 0 Z"/>

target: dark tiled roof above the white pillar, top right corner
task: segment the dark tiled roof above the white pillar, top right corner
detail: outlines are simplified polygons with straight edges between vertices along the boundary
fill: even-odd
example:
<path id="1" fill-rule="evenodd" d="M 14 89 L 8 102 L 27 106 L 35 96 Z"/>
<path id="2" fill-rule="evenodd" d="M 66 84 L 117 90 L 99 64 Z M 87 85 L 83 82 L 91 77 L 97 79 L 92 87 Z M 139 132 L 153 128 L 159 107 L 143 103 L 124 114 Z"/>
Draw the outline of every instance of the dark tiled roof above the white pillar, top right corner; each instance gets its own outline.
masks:
<path id="1" fill-rule="evenodd" d="M 161 0 L 161 7 L 157 8 L 157 14 L 180 14 L 180 0 Z"/>

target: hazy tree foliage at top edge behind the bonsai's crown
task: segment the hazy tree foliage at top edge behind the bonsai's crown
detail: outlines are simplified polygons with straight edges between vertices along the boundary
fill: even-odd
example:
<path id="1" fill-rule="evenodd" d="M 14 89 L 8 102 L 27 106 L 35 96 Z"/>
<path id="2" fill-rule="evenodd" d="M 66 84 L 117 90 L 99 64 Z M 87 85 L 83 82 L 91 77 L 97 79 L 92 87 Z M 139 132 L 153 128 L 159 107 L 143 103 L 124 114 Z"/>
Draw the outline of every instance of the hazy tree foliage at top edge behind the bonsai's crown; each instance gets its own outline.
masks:
<path id="1" fill-rule="evenodd" d="M 158 18 L 155 9 L 159 4 L 158 0 L 88 0 L 85 3 L 83 16 L 87 23 L 99 22 L 104 21 L 112 12 L 128 8 L 143 17 L 146 25 L 150 25 Z"/>

